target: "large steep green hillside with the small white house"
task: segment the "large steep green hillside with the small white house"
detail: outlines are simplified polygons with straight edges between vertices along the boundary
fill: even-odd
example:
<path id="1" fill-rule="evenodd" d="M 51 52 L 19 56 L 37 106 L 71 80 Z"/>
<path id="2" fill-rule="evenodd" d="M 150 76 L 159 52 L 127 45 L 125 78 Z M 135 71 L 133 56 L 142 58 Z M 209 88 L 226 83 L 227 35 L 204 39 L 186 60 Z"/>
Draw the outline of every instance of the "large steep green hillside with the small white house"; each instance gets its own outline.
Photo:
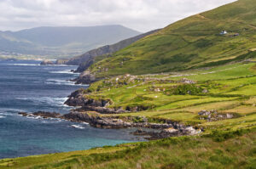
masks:
<path id="1" fill-rule="evenodd" d="M 256 48 L 255 8 L 254 0 L 239 0 L 195 14 L 96 63 L 90 72 L 98 77 L 160 73 L 251 58 Z"/>

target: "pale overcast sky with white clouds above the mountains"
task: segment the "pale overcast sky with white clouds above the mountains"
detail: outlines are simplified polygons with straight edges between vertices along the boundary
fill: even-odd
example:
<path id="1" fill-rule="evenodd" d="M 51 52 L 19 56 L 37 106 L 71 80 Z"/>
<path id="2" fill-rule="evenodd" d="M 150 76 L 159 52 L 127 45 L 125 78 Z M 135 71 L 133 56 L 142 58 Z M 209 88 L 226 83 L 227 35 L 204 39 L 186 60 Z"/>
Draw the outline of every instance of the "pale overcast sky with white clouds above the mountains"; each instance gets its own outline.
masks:
<path id="1" fill-rule="evenodd" d="M 0 0 L 0 30 L 37 26 L 125 25 L 137 31 L 165 27 L 236 0 Z"/>

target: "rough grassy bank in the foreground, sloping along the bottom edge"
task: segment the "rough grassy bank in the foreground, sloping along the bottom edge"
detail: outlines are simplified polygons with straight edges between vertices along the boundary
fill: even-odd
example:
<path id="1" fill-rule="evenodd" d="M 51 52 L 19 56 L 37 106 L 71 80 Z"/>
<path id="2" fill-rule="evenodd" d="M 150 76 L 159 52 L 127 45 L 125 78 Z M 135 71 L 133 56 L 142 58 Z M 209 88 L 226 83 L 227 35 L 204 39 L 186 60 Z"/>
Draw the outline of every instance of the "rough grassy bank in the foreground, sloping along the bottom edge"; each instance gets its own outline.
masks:
<path id="1" fill-rule="evenodd" d="M 0 168 L 256 168 L 255 127 L 0 161 Z"/>

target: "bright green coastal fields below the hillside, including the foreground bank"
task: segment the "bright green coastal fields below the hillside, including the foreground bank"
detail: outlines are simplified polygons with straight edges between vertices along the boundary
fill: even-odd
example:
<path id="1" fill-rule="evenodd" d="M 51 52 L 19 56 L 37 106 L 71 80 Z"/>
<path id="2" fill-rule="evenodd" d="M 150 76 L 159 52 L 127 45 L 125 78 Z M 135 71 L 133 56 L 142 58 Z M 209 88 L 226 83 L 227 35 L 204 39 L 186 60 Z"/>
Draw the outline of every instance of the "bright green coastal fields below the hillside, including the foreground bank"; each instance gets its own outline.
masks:
<path id="1" fill-rule="evenodd" d="M 193 137 L 5 159 L 0 161 L 0 168 L 256 168 L 255 74 L 255 63 L 236 63 L 95 82 L 84 97 L 109 99 L 109 107 L 147 108 L 120 114 L 119 118 L 145 116 L 154 122 L 167 119 L 203 127 L 205 132 Z M 184 77 L 195 84 L 183 82 Z M 202 89 L 207 93 L 201 93 Z M 235 117 L 201 120 L 201 110 L 218 110 Z"/>

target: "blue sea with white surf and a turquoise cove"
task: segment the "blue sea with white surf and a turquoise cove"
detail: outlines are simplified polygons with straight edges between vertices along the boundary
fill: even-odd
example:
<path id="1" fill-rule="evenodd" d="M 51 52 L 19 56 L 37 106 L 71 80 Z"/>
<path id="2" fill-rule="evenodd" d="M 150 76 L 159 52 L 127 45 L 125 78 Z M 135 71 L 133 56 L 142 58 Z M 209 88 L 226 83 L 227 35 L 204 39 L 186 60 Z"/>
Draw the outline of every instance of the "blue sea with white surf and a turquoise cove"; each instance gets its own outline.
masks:
<path id="1" fill-rule="evenodd" d="M 0 159 L 91 149 L 142 141 L 135 129 L 99 129 L 86 123 L 27 118 L 19 112 L 68 113 L 63 103 L 81 87 L 67 80 L 76 66 L 39 65 L 40 61 L 0 61 Z"/>

